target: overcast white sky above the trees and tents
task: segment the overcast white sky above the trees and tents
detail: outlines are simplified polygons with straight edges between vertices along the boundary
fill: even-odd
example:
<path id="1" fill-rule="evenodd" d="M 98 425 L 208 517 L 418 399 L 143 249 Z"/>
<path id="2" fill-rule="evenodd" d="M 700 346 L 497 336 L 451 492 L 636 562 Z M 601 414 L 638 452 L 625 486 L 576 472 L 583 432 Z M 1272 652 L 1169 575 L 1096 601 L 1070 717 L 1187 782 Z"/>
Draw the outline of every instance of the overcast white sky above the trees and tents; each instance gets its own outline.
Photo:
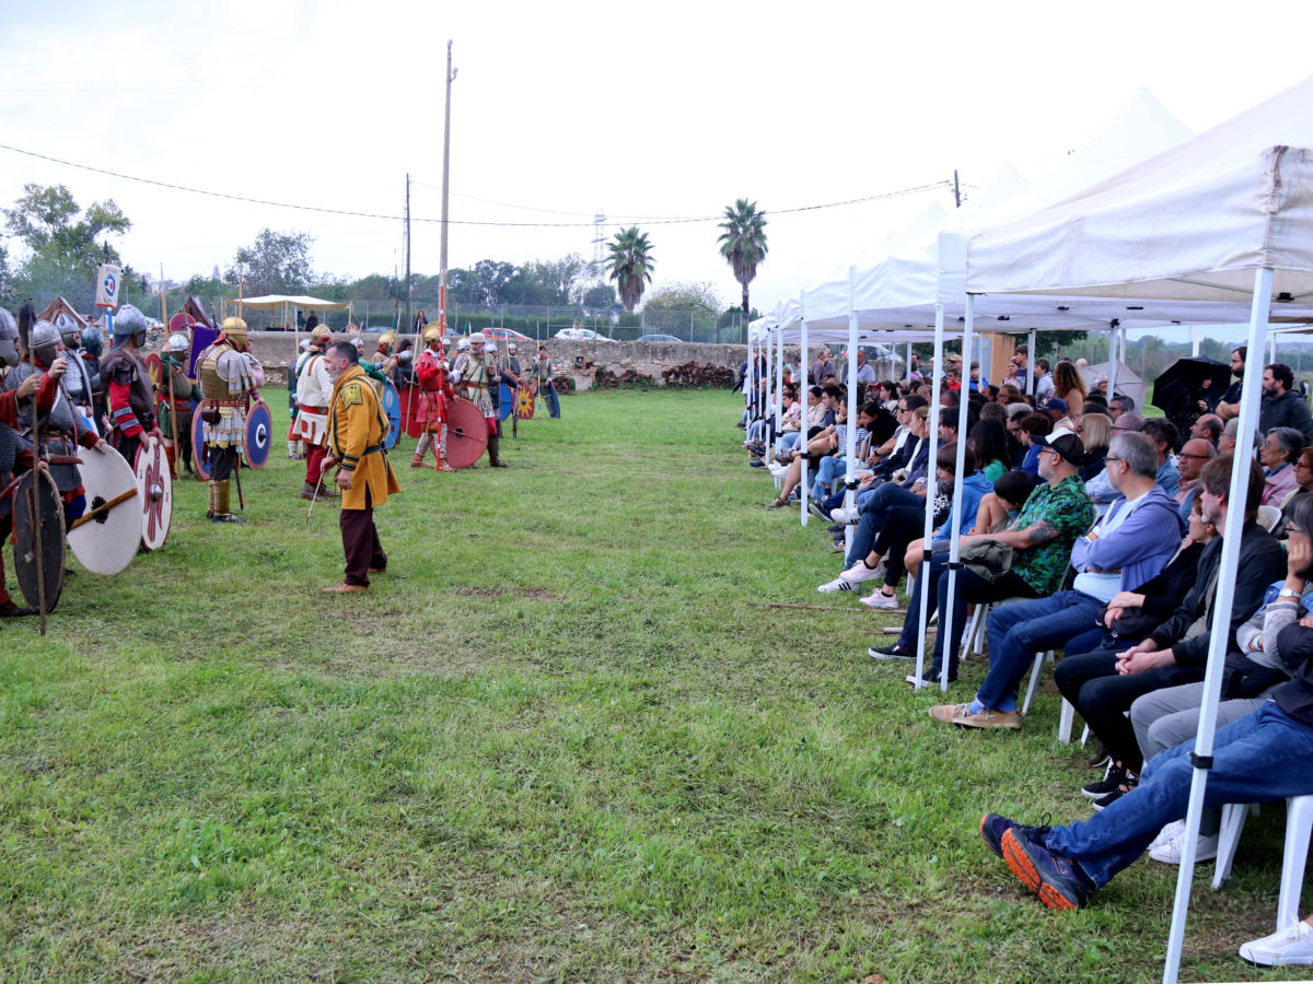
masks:
<path id="1" fill-rule="evenodd" d="M 1262 12 L 1262 16 L 1257 16 Z M 739 289 L 716 216 L 947 182 L 1004 161 L 1040 177 L 1146 85 L 1203 130 L 1305 77 L 1306 0 L 1199 3 L 7 3 L 0 143 L 209 192 L 326 209 L 441 211 L 442 77 L 454 41 L 450 265 L 590 258 L 638 224 L 654 286 Z M 1247 16 L 1254 14 L 1254 16 Z M 1313 108 L 1310 108 L 1313 112 Z M 315 237 L 314 269 L 400 266 L 397 219 L 169 190 L 0 150 L 0 205 L 24 182 L 113 198 L 129 262 L 169 279 L 226 266 L 264 227 Z M 768 216 L 752 283 L 765 311 L 848 264 L 951 190 Z M 579 223 L 478 226 L 470 223 Z M 416 222 L 412 269 L 437 273 Z"/>

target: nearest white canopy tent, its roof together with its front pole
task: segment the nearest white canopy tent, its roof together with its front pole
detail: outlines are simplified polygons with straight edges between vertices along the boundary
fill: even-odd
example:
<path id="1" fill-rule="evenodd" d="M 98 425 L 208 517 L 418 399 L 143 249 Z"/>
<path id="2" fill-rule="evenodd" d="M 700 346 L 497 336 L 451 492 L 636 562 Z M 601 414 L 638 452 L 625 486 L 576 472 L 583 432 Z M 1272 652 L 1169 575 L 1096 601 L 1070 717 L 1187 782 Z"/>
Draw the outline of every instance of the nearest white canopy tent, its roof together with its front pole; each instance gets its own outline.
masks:
<path id="1" fill-rule="evenodd" d="M 1146 312 L 1180 300 L 1250 308 L 1249 348 L 1313 303 L 1313 79 L 1049 209 L 977 235 L 968 290 L 1099 295 Z M 1238 446 L 1258 422 L 1262 359 L 1245 366 Z M 1245 497 L 1236 455 L 1228 501 Z M 1234 601 L 1243 509 L 1228 509 L 1215 611 Z M 1213 632 L 1163 980 L 1176 980 L 1212 761 L 1226 632 Z"/>

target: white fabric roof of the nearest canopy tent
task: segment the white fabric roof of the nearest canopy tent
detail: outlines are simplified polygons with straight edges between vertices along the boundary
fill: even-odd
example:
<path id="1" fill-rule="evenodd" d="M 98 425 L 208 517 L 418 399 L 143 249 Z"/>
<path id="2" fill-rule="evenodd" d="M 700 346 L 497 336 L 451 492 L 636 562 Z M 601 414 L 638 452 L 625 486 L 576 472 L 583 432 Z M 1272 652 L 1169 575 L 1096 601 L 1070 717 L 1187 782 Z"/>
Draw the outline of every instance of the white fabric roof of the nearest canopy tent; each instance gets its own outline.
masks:
<path id="1" fill-rule="evenodd" d="M 1247 320 L 1254 270 L 1272 268 L 1272 314 L 1309 316 L 1310 105 L 1306 79 L 1064 201 L 978 232 L 968 289 L 1230 302 L 1229 318 Z"/>

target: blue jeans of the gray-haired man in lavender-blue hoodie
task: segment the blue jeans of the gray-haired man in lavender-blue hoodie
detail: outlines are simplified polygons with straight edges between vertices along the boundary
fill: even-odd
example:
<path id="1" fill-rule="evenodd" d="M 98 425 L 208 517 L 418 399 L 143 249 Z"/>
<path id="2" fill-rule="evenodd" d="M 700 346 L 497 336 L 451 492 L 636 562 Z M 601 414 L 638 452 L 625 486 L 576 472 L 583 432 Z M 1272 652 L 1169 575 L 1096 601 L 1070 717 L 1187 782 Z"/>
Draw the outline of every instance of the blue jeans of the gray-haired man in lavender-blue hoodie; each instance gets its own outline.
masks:
<path id="1" fill-rule="evenodd" d="M 1035 653 L 1092 628 L 1100 604 L 1082 592 L 1058 592 L 990 611 L 989 673 L 976 699 L 995 711 L 1015 711 L 1018 687 Z"/>

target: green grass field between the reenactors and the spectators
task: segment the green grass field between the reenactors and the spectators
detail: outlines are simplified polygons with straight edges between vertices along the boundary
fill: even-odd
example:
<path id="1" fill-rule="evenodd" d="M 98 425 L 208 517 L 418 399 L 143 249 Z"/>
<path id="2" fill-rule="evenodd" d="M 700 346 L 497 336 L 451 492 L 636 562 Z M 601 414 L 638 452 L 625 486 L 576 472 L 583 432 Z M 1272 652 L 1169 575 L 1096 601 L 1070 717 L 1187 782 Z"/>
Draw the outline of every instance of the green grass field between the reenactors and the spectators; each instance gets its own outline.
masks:
<path id="1" fill-rule="evenodd" d="M 762 508 L 733 394 L 563 413 L 507 471 L 403 440 L 365 596 L 319 593 L 335 506 L 278 446 L 246 526 L 180 487 L 161 551 L 3 626 L 0 980 L 1161 976 L 1175 870 L 1057 914 L 977 836 L 1087 815 L 1052 680 L 1022 732 L 934 724 L 865 655 L 893 617 L 815 594 L 823 531 Z M 1283 830 L 1200 867 L 1183 980 L 1264 979 L 1234 951 Z"/>

